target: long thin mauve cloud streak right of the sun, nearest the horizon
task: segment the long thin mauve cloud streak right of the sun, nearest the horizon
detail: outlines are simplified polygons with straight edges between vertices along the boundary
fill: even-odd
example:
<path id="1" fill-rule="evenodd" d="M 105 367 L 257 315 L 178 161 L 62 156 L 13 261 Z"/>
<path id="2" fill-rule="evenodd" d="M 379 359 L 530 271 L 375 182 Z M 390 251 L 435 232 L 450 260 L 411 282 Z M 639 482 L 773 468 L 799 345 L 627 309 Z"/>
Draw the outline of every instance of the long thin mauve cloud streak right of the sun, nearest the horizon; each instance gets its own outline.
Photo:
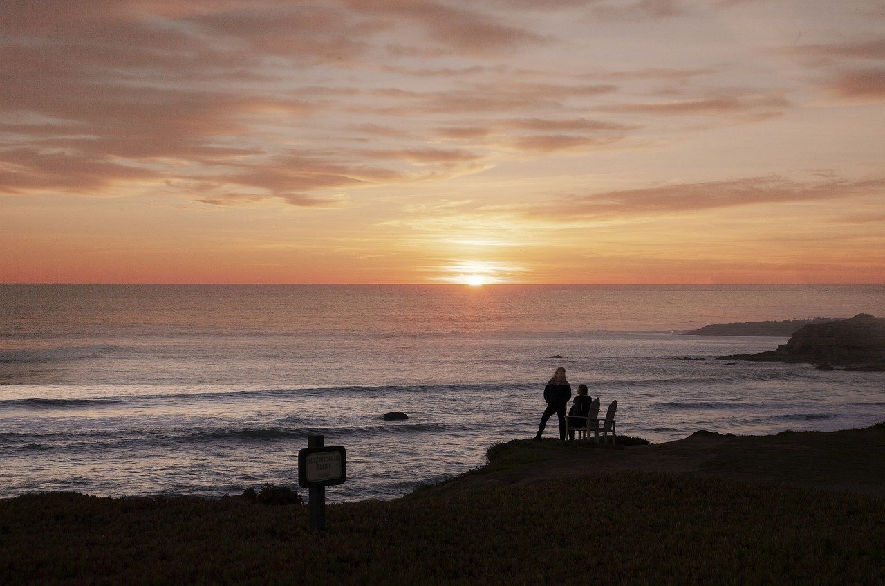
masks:
<path id="1" fill-rule="evenodd" d="M 527 206 L 523 212 L 532 216 L 605 219 L 843 199 L 880 193 L 883 188 L 885 178 L 800 183 L 777 176 L 751 177 L 564 197 Z"/>

